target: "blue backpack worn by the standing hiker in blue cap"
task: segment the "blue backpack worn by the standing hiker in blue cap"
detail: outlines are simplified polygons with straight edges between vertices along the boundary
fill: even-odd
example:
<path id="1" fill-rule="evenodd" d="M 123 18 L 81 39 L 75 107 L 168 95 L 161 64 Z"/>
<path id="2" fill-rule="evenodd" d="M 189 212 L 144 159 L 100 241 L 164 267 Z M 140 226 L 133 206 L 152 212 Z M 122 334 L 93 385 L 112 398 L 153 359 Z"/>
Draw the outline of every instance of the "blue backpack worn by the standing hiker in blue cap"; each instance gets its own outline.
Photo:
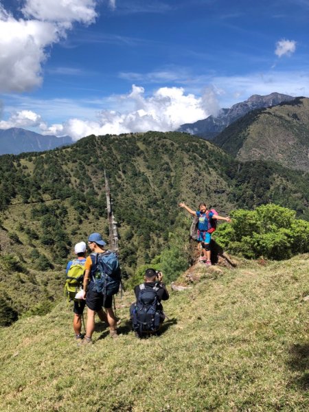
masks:
<path id="1" fill-rule="evenodd" d="M 91 253 L 91 275 L 93 290 L 104 296 L 115 295 L 122 280 L 117 253 L 106 251 L 104 253 Z"/>

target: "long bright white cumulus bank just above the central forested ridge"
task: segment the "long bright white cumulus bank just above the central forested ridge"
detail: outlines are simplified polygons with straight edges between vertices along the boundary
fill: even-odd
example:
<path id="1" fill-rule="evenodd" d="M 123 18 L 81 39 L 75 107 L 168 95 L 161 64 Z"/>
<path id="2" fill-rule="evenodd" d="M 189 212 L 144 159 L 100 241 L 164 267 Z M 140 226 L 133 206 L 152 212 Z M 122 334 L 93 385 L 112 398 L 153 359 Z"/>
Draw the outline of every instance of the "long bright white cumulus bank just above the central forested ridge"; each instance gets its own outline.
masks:
<path id="1" fill-rule="evenodd" d="M 44 134 L 69 135 L 78 140 L 91 134 L 175 130 L 185 122 L 196 122 L 209 115 L 203 98 L 185 94 L 180 87 L 161 87 L 146 97 L 144 88 L 133 84 L 130 93 L 117 97 L 117 106 L 123 110 L 101 111 L 96 121 L 73 118 L 49 127 L 42 123 L 41 131 Z"/>

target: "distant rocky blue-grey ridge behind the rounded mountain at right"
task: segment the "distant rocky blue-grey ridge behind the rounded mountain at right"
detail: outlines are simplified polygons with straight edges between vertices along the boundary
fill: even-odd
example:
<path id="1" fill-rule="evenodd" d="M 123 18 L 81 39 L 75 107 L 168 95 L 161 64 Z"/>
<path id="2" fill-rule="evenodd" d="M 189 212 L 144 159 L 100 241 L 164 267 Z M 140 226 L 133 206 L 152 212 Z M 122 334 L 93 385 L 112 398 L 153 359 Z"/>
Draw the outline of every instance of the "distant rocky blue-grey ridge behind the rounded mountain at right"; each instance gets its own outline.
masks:
<path id="1" fill-rule="evenodd" d="M 186 123 L 180 126 L 179 132 L 191 133 L 204 139 L 212 140 L 229 124 L 257 108 L 275 106 L 282 102 L 288 102 L 294 98 L 281 93 L 270 95 L 252 95 L 251 98 L 241 103 L 236 103 L 231 108 L 222 108 L 218 116 L 209 116 L 207 119 L 198 120 L 195 123 Z"/>

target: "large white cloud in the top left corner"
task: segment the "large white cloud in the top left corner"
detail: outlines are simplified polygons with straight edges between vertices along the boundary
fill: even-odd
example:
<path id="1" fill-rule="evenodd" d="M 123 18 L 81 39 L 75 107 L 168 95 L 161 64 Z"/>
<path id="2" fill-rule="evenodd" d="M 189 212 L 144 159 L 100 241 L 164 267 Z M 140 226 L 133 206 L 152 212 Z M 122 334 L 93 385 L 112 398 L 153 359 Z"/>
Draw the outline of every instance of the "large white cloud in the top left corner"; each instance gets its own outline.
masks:
<path id="1" fill-rule="evenodd" d="M 93 0 L 26 0 L 24 19 L 0 4 L 0 91 L 23 92 L 42 83 L 48 47 L 66 35 L 74 22 L 95 19 Z"/>

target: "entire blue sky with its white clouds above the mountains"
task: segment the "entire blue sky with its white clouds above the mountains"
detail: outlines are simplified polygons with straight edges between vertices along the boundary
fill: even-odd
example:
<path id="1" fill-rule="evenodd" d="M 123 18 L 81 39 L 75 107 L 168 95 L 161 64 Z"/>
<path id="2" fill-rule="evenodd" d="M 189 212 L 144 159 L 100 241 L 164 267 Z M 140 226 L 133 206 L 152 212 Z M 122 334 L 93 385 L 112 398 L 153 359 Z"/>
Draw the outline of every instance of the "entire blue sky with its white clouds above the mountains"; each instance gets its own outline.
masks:
<path id="1" fill-rule="evenodd" d="M 174 130 L 309 95 L 309 0 L 0 0 L 0 128 Z"/>

